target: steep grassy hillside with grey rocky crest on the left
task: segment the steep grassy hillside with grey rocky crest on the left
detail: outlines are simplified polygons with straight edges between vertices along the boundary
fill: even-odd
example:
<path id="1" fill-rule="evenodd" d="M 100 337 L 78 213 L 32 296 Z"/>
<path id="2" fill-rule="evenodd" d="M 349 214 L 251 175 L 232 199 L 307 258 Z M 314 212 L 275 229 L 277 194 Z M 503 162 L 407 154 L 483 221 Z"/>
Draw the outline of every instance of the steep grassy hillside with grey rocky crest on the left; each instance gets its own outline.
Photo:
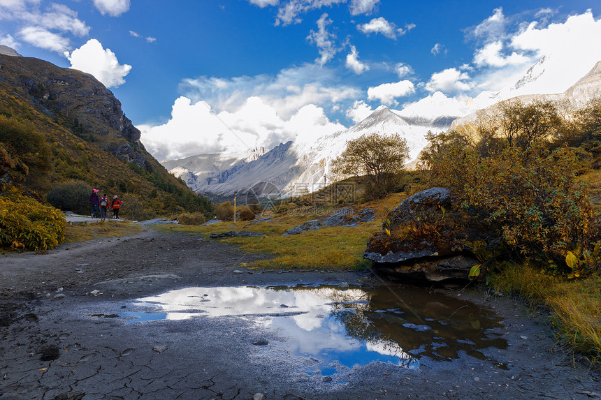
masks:
<path id="1" fill-rule="evenodd" d="M 144 149 L 119 101 L 92 75 L 1 54 L 0 66 L 2 175 L 13 183 L 43 196 L 62 182 L 82 181 L 119 195 L 123 213 L 136 219 L 210 213 L 206 198 Z M 28 135 L 43 140 L 26 149 Z"/>

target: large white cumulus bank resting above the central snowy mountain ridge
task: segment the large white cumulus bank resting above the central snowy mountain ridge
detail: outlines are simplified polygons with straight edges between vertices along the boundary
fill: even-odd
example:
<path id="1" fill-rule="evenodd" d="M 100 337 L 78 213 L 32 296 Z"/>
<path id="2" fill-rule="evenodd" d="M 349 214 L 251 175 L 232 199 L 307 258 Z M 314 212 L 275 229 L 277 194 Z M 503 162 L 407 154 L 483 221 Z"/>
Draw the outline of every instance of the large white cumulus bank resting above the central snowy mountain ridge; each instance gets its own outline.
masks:
<path id="1" fill-rule="evenodd" d="M 145 147 L 159 160 L 194 154 L 244 154 L 253 147 L 273 148 L 288 140 L 311 143 L 345 129 L 329 121 L 324 110 L 312 104 L 284 120 L 256 96 L 247 98 L 235 112 L 218 114 L 205 101 L 192 103 L 182 96 L 173 104 L 166 124 L 137 127 Z"/>

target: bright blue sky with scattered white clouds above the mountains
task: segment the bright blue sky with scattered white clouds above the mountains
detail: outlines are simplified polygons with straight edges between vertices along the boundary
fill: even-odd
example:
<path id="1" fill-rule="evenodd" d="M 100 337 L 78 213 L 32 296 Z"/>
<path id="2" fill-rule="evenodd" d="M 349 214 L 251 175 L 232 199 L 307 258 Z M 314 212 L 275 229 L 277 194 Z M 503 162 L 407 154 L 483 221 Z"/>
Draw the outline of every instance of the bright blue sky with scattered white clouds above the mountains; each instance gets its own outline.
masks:
<path id="1" fill-rule="evenodd" d="M 0 0 L 0 44 L 93 73 L 160 159 L 242 150 L 232 132 L 310 142 L 382 104 L 480 104 L 545 55 L 530 90 L 563 91 L 601 60 L 600 16 L 584 0 Z"/>

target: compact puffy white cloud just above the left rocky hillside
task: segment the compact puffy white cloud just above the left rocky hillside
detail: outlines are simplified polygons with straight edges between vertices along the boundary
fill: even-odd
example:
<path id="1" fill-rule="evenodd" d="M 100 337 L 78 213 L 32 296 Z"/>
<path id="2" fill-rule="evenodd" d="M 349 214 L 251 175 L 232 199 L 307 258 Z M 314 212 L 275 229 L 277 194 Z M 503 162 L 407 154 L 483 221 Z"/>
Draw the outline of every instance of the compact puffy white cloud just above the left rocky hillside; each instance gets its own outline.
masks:
<path id="1" fill-rule="evenodd" d="M 118 87 L 125 83 L 123 79 L 131 70 L 127 64 L 119 64 L 115 53 L 104 49 L 96 39 L 90 39 L 71 54 L 66 54 L 71 68 L 91 73 L 106 87 Z"/>

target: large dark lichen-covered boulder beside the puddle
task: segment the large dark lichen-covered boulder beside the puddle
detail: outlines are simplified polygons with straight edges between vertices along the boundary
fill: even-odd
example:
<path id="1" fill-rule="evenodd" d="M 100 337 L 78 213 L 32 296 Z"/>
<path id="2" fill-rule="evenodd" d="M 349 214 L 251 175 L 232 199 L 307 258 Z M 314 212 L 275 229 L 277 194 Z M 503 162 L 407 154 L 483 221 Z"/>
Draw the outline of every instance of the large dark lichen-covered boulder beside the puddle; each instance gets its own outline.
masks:
<path id="1" fill-rule="evenodd" d="M 437 225 L 437 218 L 449 221 L 451 217 L 444 214 L 453 201 L 446 188 L 430 188 L 405 199 L 387 216 L 390 230 L 370 237 L 363 258 L 374 262 L 376 271 L 405 281 L 468 280 L 470 268 L 479 262 L 458 243 L 485 237 L 486 232 Z M 404 233 L 391 234 L 395 228 Z"/>

